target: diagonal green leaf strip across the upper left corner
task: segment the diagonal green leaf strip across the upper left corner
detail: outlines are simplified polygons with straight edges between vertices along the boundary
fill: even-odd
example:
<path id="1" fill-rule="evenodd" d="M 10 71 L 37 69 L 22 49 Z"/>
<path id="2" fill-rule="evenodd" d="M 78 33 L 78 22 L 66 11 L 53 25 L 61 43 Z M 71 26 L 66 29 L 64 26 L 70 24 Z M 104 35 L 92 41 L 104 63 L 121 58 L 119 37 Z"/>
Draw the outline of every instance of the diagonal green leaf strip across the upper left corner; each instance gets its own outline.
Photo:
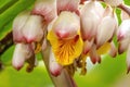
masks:
<path id="1" fill-rule="evenodd" d="M 8 25 L 20 12 L 29 8 L 35 0 L 18 0 L 15 4 L 11 5 L 2 14 L 0 14 L 0 32 Z"/>

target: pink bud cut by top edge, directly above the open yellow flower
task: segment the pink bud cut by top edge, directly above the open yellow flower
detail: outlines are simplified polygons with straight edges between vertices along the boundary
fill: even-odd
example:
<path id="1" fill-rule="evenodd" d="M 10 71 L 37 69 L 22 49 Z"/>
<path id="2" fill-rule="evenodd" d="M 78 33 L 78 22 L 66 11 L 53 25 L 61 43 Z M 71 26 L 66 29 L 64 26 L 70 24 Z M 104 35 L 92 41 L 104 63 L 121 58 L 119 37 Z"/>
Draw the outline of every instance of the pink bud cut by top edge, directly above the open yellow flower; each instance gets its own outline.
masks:
<path id="1" fill-rule="evenodd" d="M 78 5 L 80 0 L 56 0 L 57 3 L 57 13 L 62 11 L 78 12 Z"/>

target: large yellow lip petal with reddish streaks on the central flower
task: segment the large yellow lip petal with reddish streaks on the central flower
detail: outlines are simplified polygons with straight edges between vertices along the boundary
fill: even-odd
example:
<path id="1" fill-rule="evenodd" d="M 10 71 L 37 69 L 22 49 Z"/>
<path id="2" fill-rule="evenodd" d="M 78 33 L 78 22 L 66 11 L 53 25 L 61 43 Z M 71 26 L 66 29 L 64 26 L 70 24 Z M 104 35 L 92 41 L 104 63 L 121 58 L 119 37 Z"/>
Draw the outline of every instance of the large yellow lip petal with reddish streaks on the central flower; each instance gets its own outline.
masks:
<path id="1" fill-rule="evenodd" d="M 48 39 L 52 46 L 56 61 L 62 65 L 72 64 L 82 51 L 82 39 L 77 35 L 76 39 L 58 39 L 52 30 L 48 33 Z"/>

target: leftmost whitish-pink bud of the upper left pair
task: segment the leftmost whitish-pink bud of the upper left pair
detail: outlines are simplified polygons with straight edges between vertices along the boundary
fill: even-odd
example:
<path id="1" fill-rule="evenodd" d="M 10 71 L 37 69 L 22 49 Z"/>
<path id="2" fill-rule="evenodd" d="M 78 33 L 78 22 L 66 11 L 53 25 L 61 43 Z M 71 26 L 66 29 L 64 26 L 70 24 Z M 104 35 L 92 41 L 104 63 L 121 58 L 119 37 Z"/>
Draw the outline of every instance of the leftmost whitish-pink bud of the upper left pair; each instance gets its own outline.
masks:
<path id="1" fill-rule="evenodd" d="M 29 12 L 20 13 L 13 21 L 13 40 L 15 42 L 24 41 L 22 29 L 26 24 L 26 21 L 29 17 Z"/>

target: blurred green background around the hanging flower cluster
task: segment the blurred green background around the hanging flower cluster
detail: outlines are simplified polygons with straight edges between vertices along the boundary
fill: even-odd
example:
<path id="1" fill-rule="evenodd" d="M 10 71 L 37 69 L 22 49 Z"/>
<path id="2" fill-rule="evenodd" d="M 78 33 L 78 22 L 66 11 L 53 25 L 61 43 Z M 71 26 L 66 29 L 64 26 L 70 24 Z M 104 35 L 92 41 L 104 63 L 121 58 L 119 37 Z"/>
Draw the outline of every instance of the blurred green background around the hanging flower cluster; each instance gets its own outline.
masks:
<path id="1" fill-rule="evenodd" d="M 13 18 L 22 11 L 31 9 L 35 0 L 0 0 L 0 39 L 11 32 Z M 130 5 L 130 0 L 125 0 Z M 119 17 L 120 11 L 117 10 Z M 54 87 L 42 61 L 31 72 L 25 66 L 16 71 L 11 66 L 14 46 L 0 55 L 4 67 L 0 70 L 0 87 Z M 37 58 L 40 60 L 41 55 Z M 110 58 L 104 55 L 101 64 L 92 65 L 88 60 L 88 73 L 75 74 L 78 87 L 130 87 L 130 74 L 127 74 L 126 53 Z"/>

